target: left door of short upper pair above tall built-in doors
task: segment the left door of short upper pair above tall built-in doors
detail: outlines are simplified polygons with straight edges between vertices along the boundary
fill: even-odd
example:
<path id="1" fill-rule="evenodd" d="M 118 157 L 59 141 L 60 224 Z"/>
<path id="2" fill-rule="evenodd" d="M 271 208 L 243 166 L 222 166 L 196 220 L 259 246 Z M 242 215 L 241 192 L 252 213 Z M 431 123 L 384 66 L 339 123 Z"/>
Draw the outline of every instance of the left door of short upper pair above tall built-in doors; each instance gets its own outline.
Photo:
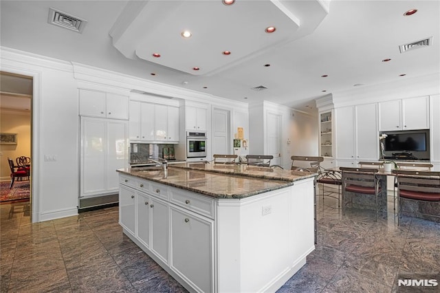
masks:
<path id="1" fill-rule="evenodd" d="M 105 117 L 105 93 L 80 89 L 80 115 Z"/>

